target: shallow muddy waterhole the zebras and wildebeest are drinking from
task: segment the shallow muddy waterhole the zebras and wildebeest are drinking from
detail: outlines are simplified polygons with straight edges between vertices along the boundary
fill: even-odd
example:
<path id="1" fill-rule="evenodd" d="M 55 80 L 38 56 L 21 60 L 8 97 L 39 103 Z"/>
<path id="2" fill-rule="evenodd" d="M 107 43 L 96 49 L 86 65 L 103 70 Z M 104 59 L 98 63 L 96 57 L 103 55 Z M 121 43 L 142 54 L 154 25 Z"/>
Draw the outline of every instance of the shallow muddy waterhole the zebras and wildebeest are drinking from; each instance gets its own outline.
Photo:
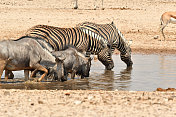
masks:
<path id="1" fill-rule="evenodd" d="M 154 91 L 156 88 L 176 88 L 176 55 L 132 56 L 134 65 L 126 69 L 119 55 L 113 55 L 115 67 L 104 70 L 99 61 L 93 61 L 90 77 L 69 79 L 66 82 L 24 82 L 23 71 L 14 72 L 15 79 L 0 84 L 1 89 L 88 89 Z"/>

